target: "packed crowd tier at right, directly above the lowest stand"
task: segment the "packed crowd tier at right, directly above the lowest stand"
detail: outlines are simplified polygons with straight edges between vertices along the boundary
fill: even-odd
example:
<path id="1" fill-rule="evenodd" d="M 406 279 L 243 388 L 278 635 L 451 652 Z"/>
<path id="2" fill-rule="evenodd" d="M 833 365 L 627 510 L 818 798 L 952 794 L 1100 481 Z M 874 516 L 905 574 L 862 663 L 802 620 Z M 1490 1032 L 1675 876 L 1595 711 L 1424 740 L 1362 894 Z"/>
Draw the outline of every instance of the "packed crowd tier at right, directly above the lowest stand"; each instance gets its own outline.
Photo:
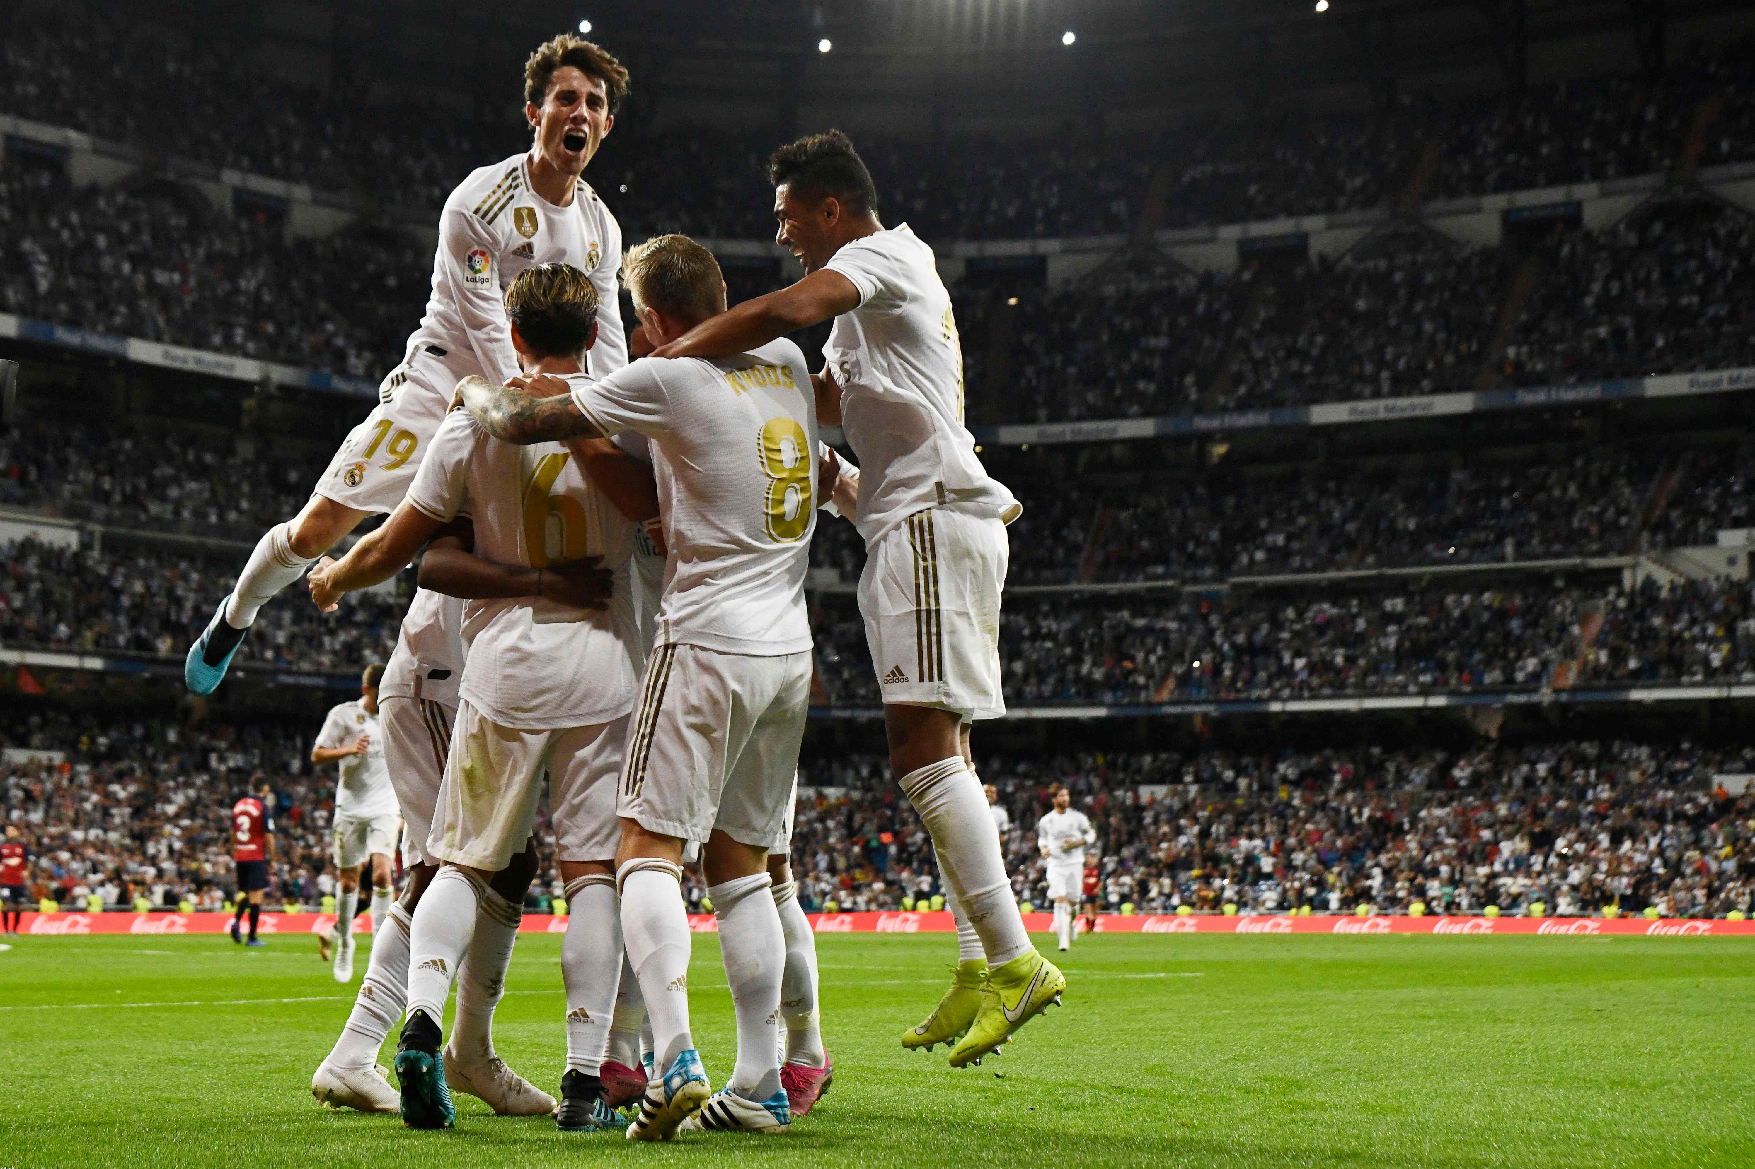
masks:
<path id="1" fill-rule="evenodd" d="M 818 680 L 837 706 L 881 694 L 851 605 L 818 606 Z M 1746 584 L 1523 578 L 1006 601 L 1016 706 L 1408 696 L 1755 682 Z"/>

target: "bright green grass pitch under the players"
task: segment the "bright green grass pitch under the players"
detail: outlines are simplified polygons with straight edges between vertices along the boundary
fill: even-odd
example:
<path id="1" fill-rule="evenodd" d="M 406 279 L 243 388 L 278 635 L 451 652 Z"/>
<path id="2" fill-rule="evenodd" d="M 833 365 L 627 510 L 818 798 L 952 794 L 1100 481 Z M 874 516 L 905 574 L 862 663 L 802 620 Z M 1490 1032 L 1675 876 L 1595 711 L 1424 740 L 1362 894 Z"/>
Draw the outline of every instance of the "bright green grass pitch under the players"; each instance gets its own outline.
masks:
<path id="1" fill-rule="evenodd" d="M 5 1167 L 1755 1164 L 1755 939 L 1097 936 L 1062 955 L 1064 1010 L 951 1071 L 897 1038 L 937 1001 L 955 939 L 825 934 L 835 1087 L 818 1111 L 779 1139 L 663 1148 L 467 1095 L 453 1132 L 321 1109 L 311 1073 L 358 981 L 330 981 L 305 936 L 9 941 Z M 551 1092 L 558 962 L 558 936 L 519 938 L 495 1027 Z M 734 1027 L 713 936 L 690 987 L 720 1085 Z"/>

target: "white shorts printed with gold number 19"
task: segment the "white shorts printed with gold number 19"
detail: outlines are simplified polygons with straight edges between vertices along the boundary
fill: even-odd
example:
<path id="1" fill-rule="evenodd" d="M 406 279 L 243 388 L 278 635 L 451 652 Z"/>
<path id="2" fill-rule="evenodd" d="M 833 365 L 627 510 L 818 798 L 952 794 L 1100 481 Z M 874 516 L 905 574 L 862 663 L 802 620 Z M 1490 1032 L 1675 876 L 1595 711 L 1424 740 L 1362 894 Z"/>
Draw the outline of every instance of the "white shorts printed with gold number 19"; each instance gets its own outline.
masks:
<path id="1" fill-rule="evenodd" d="M 362 512 L 395 512 L 414 482 L 456 379 L 425 349 L 391 370 L 377 387 L 377 407 L 342 440 L 314 494 Z"/>

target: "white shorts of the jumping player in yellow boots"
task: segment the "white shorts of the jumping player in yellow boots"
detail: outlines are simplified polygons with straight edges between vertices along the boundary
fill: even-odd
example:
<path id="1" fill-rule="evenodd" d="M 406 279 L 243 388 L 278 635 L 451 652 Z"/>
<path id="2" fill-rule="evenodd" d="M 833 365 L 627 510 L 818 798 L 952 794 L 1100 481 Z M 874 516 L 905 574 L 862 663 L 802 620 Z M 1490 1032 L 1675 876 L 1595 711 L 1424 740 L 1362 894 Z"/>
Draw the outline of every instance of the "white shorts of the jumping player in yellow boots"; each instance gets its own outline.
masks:
<path id="1" fill-rule="evenodd" d="M 878 542 L 860 575 L 860 617 L 885 703 L 965 722 L 1006 713 L 999 601 L 1009 563 L 1006 524 L 955 508 L 914 512 Z"/>

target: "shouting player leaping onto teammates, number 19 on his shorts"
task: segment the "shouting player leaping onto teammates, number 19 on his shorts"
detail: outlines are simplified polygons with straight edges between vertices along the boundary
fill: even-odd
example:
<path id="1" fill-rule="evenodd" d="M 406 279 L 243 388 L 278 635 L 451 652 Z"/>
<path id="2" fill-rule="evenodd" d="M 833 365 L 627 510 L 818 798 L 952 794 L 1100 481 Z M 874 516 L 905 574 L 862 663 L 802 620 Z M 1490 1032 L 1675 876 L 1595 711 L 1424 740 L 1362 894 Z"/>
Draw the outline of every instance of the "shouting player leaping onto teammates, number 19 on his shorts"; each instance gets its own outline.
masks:
<path id="1" fill-rule="evenodd" d="M 402 501 L 462 377 L 518 375 L 502 289 L 525 268 L 567 263 L 590 273 L 602 328 L 591 373 L 628 363 L 616 301 L 621 228 L 581 174 L 614 128 L 628 70 L 602 47 L 560 35 L 525 65 L 523 154 L 470 172 L 439 217 L 432 298 L 407 352 L 379 386 L 377 407 L 342 442 L 297 517 L 256 543 L 237 584 L 190 647 L 184 685 L 211 694 L 244 631 L 276 592 L 374 512 Z"/>

